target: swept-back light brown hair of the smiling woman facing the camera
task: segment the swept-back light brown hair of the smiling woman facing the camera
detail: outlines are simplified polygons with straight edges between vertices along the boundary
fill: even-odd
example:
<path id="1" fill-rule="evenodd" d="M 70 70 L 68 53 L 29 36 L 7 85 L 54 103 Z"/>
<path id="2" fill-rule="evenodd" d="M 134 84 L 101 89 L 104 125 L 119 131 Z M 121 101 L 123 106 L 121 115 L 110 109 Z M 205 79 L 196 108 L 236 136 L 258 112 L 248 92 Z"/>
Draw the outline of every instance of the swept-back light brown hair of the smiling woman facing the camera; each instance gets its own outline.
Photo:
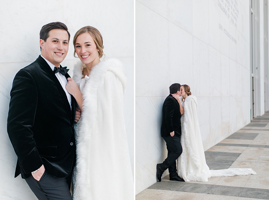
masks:
<path id="1" fill-rule="evenodd" d="M 93 38 L 95 45 L 96 45 L 96 48 L 99 50 L 98 55 L 99 55 L 99 59 L 100 59 L 104 55 L 104 53 L 103 53 L 103 49 L 104 49 L 103 38 L 102 38 L 101 33 L 96 28 L 94 28 L 92 26 L 85 26 L 76 32 L 74 39 L 73 39 L 73 45 L 75 48 L 74 56 L 76 54 L 75 44 L 76 44 L 77 37 L 83 33 L 89 33 L 91 35 L 91 37 Z"/>

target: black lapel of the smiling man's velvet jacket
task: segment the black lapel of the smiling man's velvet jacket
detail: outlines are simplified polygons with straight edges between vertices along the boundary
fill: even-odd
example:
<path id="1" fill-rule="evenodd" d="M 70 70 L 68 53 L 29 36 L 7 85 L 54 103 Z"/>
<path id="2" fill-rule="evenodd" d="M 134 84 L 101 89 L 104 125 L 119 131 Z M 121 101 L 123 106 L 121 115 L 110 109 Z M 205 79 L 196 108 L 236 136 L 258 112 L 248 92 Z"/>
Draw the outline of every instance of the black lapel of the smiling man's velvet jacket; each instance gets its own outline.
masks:
<path id="1" fill-rule="evenodd" d="M 66 97 L 66 93 L 63 90 L 63 87 L 62 87 L 61 83 L 59 82 L 59 80 L 55 76 L 54 72 L 51 70 L 48 63 L 40 55 L 37 58 L 37 62 L 48 73 L 48 75 L 51 77 L 51 79 L 55 82 L 56 86 L 58 87 L 58 89 L 59 89 L 59 91 L 60 91 L 60 93 L 62 95 L 63 101 L 65 102 L 65 107 L 66 107 L 66 109 L 68 111 L 69 118 L 70 118 L 70 120 L 72 120 L 72 112 L 71 112 L 70 104 L 69 104 L 69 101 L 68 101 L 68 99 Z M 67 79 L 67 77 L 70 77 L 70 76 L 68 74 L 66 74 L 65 77 Z M 72 101 L 73 101 L 73 98 L 72 98 Z"/>

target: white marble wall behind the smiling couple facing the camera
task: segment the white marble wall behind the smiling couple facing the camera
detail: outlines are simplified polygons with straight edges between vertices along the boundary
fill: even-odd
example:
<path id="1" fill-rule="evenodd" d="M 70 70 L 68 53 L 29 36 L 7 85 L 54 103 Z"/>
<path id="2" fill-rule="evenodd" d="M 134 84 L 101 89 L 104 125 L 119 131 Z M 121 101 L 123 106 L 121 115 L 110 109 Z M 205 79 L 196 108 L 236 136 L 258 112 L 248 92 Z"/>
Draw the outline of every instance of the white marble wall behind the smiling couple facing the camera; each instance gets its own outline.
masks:
<path id="1" fill-rule="evenodd" d="M 19 69 L 40 54 L 39 31 L 44 24 L 61 21 L 69 28 L 69 53 L 62 65 L 72 68 L 73 36 L 86 25 L 96 27 L 104 40 L 106 57 L 119 58 L 128 79 L 124 114 L 131 164 L 134 165 L 134 3 L 131 0 L 102 1 L 1 1 L 0 2 L 0 199 L 36 199 L 26 182 L 14 179 L 17 157 L 6 132 L 12 81 Z M 134 170 L 133 170 L 134 171 Z"/>

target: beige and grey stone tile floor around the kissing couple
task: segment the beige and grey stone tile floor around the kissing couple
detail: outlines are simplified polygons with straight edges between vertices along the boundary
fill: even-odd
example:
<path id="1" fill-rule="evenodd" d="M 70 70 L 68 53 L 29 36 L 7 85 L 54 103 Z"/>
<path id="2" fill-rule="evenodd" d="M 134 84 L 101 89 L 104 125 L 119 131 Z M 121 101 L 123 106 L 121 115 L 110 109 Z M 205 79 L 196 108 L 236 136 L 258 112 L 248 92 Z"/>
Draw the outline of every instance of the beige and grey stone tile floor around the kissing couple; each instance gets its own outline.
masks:
<path id="1" fill-rule="evenodd" d="M 205 151 L 210 169 L 252 168 L 257 175 L 175 182 L 169 175 L 136 195 L 137 200 L 269 199 L 269 112 Z"/>

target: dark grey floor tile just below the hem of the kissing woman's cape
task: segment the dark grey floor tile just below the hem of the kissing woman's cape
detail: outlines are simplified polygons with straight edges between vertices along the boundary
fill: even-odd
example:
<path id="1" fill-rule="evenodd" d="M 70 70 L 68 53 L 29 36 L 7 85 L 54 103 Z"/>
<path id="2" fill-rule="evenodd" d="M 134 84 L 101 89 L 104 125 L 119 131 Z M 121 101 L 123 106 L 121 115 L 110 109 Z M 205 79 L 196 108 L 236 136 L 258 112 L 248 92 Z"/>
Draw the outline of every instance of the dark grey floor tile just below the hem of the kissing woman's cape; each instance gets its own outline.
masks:
<path id="1" fill-rule="evenodd" d="M 178 188 L 178 190 L 176 191 L 207 194 L 212 187 L 213 185 L 210 184 L 185 183 L 182 187 Z"/>

